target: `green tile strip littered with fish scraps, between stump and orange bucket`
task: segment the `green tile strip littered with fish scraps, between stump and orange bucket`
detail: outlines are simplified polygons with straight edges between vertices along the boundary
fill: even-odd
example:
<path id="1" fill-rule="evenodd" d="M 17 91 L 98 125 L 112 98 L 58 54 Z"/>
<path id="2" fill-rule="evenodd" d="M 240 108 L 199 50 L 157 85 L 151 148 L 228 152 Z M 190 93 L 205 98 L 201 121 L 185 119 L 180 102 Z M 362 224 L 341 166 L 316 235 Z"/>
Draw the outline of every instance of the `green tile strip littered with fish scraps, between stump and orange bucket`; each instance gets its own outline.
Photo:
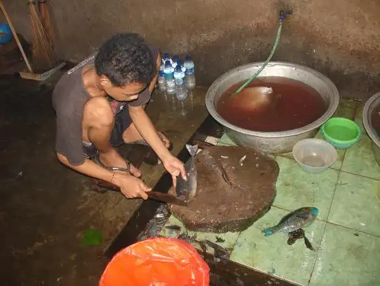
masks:
<path id="1" fill-rule="evenodd" d="M 173 226 L 173 225 L 181 227 L 180 233 L 186 232 L 186 229 L 184 228 L 184 225 L 182 224 L 182 222 L 180 222 L 180 220 L 178 220 L 176 217 L 171 215 L 169 217 L 167 224 L 165 224 L 165 226 Z M 193 231 L 188 231 L 189 236 L 194 235 L 194 233 L 195 232 L 193 232 Z M 167 238 L 175 238 L 178 235 L 178 233 L 163 227 L 160 235 L 167 237 Z M 234 245 L 235 245 L 236 240 L 238 239 L 238 236 L 239 236 L 238 232 L 236 232 L 236 233 L 231 233 L 231 232 L 227 232 L 227 233 L 196 232 L 196 240 L 199 240 L 199 241 L 209 240 L 209 241 L 215 242 L 216 244 L 220 245 L 221 247 L 225 247 L 225 248 L 234 248 Z M 216 242 L 217 238 L 218 238 L 218 240 L 223 240 L 223 242 Z M 200 245 L 198 243 L 191 242 L 191 244 L 196 249 L 201 250 Z M 207 252 L 213 254 L 213 249 L 211 247 L 207 247 Z"/>

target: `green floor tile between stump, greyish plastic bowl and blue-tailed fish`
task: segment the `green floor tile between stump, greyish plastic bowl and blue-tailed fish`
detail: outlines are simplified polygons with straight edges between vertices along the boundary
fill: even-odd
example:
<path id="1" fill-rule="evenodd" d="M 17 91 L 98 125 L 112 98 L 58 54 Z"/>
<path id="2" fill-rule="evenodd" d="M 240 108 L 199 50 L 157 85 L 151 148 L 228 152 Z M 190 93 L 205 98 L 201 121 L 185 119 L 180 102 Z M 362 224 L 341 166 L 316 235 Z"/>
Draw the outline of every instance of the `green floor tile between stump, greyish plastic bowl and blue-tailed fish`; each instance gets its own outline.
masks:
<path id="1" fill-rule="evenodd" d="M 327 169 L 319 174 L 304 172 L 296 161 L 276 157 L 280 173 L 276 182 L 274 206 L 294 211 L 303 206 L 319 208 L 319 219 L 327 220 L 339 171 Z"/>

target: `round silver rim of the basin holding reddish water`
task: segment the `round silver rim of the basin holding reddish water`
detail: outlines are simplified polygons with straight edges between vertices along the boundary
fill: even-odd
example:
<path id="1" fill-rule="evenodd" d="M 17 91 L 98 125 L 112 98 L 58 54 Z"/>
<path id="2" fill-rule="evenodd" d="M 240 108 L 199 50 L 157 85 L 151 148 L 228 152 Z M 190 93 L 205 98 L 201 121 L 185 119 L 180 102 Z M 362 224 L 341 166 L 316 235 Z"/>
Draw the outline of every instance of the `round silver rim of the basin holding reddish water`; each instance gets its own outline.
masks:
<path id="1" fill-rule="evenodd" d="M 319 78 L 323 80 L 327 84 L 327 86 L 332 90 L 332 96 L 330 97 L 330 104 L 327 107 L 327 110 L 325 113 L 319 117 L 317 120 L 314 122 L 307 124 L 303 127 L 297 128 L 297 129 L 291 129 L 287 131 L 281 131 L 281 132 L 258 132 L 258 131 L 251 131 L 249 129 L 244 129 L 241 127 L 237 127 L 236 125 L 233 125 L 222 116 L 218 114 L 216 111 L 216 107 L 214 105 L 214 98 L 215 98 L 215 93 L 213 93 L 213 90 L 218 87 L 220 82 L 227 78 L 231 73 L 236 73 L 240 71 L 240 69 L 245 69 L 249 66 L 261 66 L 264 62 L 254 62 L 250 64 L 244 64 L 241 66 L 237 66 L 234 69 L 231 69 L 230 71 L 227 71 L 226 73 L 223 73 L 220 75 L 218 79 L 216 79 L 213 84 L 211 84 L 211 87 L 207 90 L 205 101 L 206 101 L 206 107 L 207 110 L 209 111 L 209 114 L 216 120 L 218 123 L 223 125 L 223 127 L 227 127 L 231 130 L 234 130 L 235 132 L 239 132 L 241 134 L 246 134 L 249 136 L 257 136 L 257 137 L 262 137 L 262 138 L 280 138 L 280 137 L 289 137 L 289 136 L 294 136 L 298 134 L 303 134 L 305 132 L 309 132 L 311 130 L 314 130 L 318 127 L 321 127 L 323 123 L 325 123 L 330 117 L 332 117 L 336 111 L 336 108 L 338 107 L 339 104 L 339 91 L 336 88 L 335 84 L 330 80 L 330 78 L 327 78 L 325 75 L 320 73 L 319 71 L 316 71 L 314 69 L 311 69 L 307 66 L 303 66 L 301 64 L 294 64 L 290 62 L 269 62 L 265 69 L 270 68 L 272 66 L 280 65 L 280 66 L 287 66 L 291 68 L 296 68 L 296 69 L 301 69 L 307 73 L 310 73 L 311 75 L 315 76 L 316 78 Z"/>

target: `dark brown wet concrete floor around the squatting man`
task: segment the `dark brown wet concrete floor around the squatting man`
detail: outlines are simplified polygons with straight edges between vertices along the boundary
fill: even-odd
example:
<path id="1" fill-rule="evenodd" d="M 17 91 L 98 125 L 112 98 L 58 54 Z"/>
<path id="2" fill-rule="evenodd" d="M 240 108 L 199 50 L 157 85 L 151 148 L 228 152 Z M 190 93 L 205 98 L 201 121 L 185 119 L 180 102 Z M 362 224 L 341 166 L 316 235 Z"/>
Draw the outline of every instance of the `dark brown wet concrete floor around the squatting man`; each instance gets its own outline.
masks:
<path id="1" fill-rule="evenodd" d="M 92 180 L 55 157 L 55 114 L 45 84 L 19 76 L 0 78 L 0 226 L 2 285 L 97 285 L 104 251 L 140 200 L 91 191 Z M 182 149 L 206 116 L 205 91 L 184 102 L 153 96 L 147 112 L 155 126 Z M 142 166 L 154 186 L 162 166 Z M 102 243 L 82 246 L 84 231 L 102 232 Z"/>

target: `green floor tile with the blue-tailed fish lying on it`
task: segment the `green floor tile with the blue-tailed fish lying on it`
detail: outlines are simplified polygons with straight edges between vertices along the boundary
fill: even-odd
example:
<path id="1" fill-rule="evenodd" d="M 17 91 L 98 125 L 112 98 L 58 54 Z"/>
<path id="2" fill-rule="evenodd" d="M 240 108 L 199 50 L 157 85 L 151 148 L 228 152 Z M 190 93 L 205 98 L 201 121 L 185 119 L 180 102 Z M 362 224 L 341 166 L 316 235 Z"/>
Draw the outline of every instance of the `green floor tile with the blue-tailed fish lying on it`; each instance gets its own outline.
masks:
<path id="1" fill-rule="evenodd" d="M 287 245 L 287 233 L 275 233 L 269 237 L 263 235 L 263 229 L 277 224 L 286 214 L 287 211 L 272 207 L 253 226 L 242 231 L 232 251 L 231 260 L 301 285 L 307 285 L 325 222 L 316 220 L 311 226 L 305 228 L 307 238 L 317 249 L 317 251 L 311 251 L 305 247 L 303 240 Z"/>

